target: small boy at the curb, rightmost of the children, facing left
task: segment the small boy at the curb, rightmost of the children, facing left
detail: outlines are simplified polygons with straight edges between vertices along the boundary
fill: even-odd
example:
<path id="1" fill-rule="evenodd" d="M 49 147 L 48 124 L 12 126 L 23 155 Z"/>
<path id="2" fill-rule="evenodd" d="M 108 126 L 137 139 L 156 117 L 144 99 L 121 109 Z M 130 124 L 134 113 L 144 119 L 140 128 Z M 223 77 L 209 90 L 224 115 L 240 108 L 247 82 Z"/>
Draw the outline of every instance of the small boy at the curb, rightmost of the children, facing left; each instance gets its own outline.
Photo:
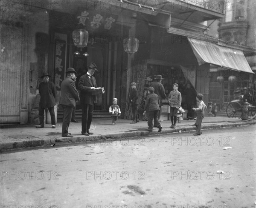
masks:
<path id="1" fill-rule="evenodd" d="M 202 134 L 202 131 L 201 131 L 202 120 L 204 118 L 204 111 L 207 108 L 207 106 L 204 104 L 203 97 L 204 95 L 202 95 L 201 93 L 198 93 L 196 96 L 196 100 L 198 101 L 198 108 L 192 108 L 193 111 L 196 111 L 196 121 L 195 121 L 196 133 L 193 134 L 195 136 Z"/>

